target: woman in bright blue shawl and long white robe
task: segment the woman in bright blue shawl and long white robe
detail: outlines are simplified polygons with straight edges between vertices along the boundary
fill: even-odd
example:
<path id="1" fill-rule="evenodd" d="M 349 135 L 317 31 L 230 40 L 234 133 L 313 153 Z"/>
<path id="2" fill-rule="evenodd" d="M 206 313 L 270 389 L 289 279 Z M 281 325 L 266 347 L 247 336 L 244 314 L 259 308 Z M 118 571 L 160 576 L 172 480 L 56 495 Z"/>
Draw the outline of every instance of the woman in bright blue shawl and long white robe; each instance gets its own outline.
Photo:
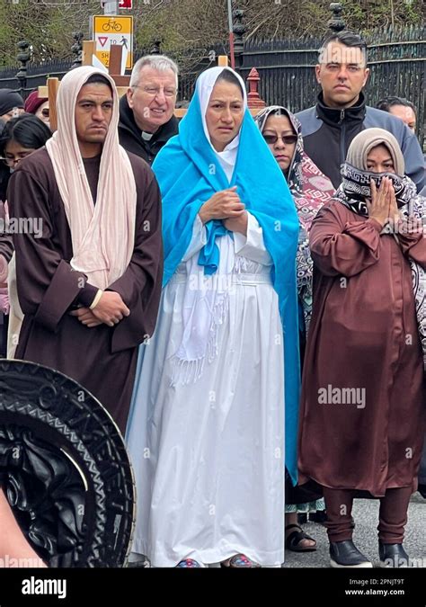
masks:
<path id="1" fill-rule="evenodd" d="M 153 168 L 164 291 L 129 418 L 133 551 L 155 567 L 280 566 L 284 463 L 297 474 L 298 221 L 240 76 L 201 74 Z"/>

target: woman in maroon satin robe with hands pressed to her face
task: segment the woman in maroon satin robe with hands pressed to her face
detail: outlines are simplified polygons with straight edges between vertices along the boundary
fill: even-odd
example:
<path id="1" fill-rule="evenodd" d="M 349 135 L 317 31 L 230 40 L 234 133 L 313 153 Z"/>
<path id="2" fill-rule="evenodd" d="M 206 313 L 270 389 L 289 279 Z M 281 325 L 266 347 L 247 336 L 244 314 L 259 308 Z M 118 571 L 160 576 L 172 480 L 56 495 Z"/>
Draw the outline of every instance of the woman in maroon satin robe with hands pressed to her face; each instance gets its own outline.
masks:
<path id="1" fill-rule="evenodd" d="M 355 494 L 380 499 L 380 561 L 400 567 L 425 422 L 425 199 L 382 129 L 353 139 L 342 176 L 310 232 L 299 469 L 324 486 L 332 567 L 371 567 L 351 540 Z"/>

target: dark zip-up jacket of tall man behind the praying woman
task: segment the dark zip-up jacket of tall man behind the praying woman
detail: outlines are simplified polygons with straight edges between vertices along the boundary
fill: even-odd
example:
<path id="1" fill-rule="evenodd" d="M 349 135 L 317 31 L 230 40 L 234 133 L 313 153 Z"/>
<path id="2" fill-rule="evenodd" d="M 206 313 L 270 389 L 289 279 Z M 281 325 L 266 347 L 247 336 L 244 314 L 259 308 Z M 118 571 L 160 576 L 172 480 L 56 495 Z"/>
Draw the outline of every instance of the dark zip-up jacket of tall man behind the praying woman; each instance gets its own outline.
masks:
<path id="1" fill-rule="evenodd" d="M 324 104 L 323 93 L 312 108 L 298 112 L 307 156 L 329 177 L 335 188 L 341 183 L 340 168 L 346 159 L 351 140 L 361 130 L 378 127 L 394 135 L 404 154 L 405 174 L 417 186 L 418 192 L 426 184 L 422 148 L 414 133 L 396 116 L 366 105 L 359 94 L 357 105 L 339 110 Z"/>

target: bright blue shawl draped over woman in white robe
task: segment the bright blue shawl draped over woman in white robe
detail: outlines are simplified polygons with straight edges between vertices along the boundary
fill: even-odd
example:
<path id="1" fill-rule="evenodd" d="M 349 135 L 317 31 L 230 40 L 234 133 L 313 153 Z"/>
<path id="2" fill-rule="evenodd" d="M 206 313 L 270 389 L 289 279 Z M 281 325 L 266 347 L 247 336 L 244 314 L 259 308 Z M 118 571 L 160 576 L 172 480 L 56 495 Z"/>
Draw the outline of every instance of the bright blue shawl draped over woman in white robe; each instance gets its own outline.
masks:
<path id="1" fill-rule="evenodd" d="M 217 76 L 224 68 L 213 67 Z M 229 68 L 225 68 L 229 69 Z M 246 210 L 258 220 L 271 254 L 271 278 L 279 295 L 284 332 L 286 398 L 286 466 L 297 480 L 297 414 L 299 399 L 299 353 L 297 328 L 296 252 L 299 222 L 295 204 L 279 165 L 246 109 L 239 133 L 231 183 L 206 137 L 200 110 L 200 86 L 179 127 L 179 134 L 163 147 L 153 169 L 163 196 L 164 285 L 173 276 L 191 242 L 192 227 L 201 205 L 233 185 Z M 235 72 L 233 72 L 235 74 Z M 211 77 L 211 73 L 209 75 Z M 244 82 L 239 79 L 243 90 Z M 226 234 L 222 221 L 206 224 L 208 242 L 199 256 L 206 274 L 217 271 L 217 238 Z"/>

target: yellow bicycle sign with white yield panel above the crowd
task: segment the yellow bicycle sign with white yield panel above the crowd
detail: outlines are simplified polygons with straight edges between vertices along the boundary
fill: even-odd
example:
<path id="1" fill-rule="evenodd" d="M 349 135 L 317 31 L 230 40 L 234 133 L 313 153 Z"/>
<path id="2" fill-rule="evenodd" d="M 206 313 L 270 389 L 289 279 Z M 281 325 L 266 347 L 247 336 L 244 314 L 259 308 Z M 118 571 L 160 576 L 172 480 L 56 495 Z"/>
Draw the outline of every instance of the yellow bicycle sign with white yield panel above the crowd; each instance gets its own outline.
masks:
<path id="1" fill-rule="evenodd" d="M 93 16 L 93 40 L 96 57 L 105 67 L 110 63 L 111 44 L 120 44 L 128 53 L 126 69 L 133 67 L 133 17 Z"/>

